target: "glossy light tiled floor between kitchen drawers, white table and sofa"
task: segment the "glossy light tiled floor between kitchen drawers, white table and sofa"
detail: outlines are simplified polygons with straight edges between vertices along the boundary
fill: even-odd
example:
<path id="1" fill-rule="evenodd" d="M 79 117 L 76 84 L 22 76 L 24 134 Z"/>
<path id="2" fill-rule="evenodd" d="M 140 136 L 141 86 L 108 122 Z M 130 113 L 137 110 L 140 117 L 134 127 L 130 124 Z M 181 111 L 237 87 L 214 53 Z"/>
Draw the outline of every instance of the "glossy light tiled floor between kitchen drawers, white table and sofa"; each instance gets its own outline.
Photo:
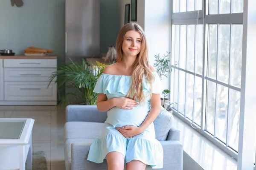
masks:
<path id="1" fill-rule="evenodd" d="M 32 151 L 44 151 L 47 170 L 65 170 L 63 127 L 65 110 L 55 106 L 0 106 L 0 118 L 35 119 Z"/>

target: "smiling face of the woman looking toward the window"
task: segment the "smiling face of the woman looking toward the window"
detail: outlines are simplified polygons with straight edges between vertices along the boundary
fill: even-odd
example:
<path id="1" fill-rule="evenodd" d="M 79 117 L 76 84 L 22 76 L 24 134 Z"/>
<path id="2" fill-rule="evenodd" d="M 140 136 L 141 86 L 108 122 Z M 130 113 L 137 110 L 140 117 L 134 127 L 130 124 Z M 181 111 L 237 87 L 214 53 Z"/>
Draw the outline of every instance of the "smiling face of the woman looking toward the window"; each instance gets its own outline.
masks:
<path id="1" fill-rule="evenodd" d="M 125 56 L 137 56 L 140 53 L 141 36 L 140 33 L 134 30 L 128 31 L 125 34 L 122 43 L 122 51 Z"/>

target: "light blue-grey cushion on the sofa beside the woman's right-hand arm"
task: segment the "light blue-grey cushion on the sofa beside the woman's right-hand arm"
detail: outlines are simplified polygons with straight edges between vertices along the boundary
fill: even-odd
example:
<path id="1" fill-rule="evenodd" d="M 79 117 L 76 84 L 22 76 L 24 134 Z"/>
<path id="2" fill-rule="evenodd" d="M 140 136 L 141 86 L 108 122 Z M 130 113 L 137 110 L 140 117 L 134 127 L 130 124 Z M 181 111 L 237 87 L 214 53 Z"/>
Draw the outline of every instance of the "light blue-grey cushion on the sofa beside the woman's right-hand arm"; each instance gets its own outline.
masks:
<path id="1" fill-rule="evenodd" d="M 173 126 L 173 116 L 172 113 L 166 111 L 163 107 L 161 112 L 154 120 L 154 127 L 156 133 L 156 139 L 159 141 L 165 141 L 167 139 L 169 130 Z"/>

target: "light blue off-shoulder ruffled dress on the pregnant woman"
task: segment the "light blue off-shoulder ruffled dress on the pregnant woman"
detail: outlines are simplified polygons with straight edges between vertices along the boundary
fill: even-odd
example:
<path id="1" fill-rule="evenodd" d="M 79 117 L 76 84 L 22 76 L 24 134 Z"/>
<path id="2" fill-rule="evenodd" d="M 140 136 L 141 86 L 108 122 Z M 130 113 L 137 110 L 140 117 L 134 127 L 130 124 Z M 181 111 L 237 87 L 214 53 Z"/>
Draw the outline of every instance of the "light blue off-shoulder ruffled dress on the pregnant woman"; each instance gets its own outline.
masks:
<path id="1" fill-rule="evenodd" d="M 152 83 L 154 94 L 161 94 L 160 77 L 153 72 L 155 81 Z M 124 97 L 131 86 L 131 76 L 102 74 L 94 88 L 95 93 L 106 94 L 108 99 Z M 154 124 L 151 123 L 143 133 L 126 139 L 116 130 L 116 127 L 134 125 L 139 127 L 150 111 L 150 84 L 143 79 L 145 104 L 132 110 L 111 108 L 102 130 L 102 135 L 96 138 L 90 146 L 87 160 L 102 163 L 110 152 L 120 152 L 125 156 L 125 164 L 132 160 L 142 161 L 153 169 L 163 168 L 163 147 L 155 139 Z"/>

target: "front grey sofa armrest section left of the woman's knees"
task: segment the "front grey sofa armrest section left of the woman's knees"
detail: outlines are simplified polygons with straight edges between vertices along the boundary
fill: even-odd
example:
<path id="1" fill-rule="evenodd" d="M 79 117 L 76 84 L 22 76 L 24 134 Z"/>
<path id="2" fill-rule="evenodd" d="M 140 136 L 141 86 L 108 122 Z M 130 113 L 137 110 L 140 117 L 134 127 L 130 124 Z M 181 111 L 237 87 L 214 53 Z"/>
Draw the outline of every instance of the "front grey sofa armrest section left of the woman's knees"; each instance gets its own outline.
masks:
<path id="1" fill-rule="evenodd" d="M 93 170 L 97 167 L 98 170 L 107 170 L 108 164 L 97 164 L 88 161 L 88 153 L 91 142 L 74 142 L 71 144 L 71 170 Z"/>

